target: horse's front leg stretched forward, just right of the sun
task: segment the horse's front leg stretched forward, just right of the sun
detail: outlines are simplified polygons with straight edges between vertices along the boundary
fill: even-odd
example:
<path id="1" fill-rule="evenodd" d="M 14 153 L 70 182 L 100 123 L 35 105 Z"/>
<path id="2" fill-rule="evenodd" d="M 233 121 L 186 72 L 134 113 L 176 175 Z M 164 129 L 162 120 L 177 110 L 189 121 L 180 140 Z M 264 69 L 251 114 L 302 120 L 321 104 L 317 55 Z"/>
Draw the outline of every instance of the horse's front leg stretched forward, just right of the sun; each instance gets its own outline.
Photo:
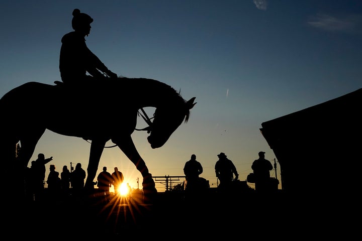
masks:
<path id="1" fill-rule="evenodd" d="M 155 183 L 152 179 L 152 174 L 149 173 L 146 163 L 139 155 L 131 136 L 124 138 L 113 138 L 112 142 L 122 150 L 122 152 L 131 160 L 136 166 L 137 170 L 140 171 L 143 177 L 142 189 L 143 189 L 143 200 L 144 202 L 152 202 L 154 195 L 157 193 Z"/>

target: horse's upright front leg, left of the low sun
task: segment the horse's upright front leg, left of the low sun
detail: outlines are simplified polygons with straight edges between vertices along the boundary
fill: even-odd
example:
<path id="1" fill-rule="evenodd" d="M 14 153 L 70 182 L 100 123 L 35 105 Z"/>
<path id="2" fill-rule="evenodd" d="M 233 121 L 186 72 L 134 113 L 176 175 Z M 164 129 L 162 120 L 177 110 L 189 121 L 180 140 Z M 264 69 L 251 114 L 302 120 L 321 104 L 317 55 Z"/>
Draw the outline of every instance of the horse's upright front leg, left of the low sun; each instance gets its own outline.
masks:
<path id="1" fill-rule="evenodd" d="M 94 191 L 93 181 L 96 178 L 98 165 L 106 143 L 107 141 L 105 140 L 92 140 L 87 166 L 87 178 L 84 184 L 84 189 L 86 191 Z"/>

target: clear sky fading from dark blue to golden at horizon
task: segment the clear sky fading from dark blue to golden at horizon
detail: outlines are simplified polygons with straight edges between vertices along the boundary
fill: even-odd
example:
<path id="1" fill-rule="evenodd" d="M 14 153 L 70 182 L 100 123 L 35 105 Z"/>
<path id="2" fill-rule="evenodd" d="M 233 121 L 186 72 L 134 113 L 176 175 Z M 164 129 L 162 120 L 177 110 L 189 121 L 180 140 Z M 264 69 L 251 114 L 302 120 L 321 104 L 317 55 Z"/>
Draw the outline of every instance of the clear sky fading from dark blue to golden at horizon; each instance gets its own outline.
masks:
<path id="1" fill-rule="evenodd" d="M 196 154 L 204 167 L 201 177 L 215 187 L 217 154 L 224 152 L 245 180 L 259 151 L 274 163 L 261 123 L 362 87 L 362 2 L 357 0 L 5 0 L 0 96 L 29 81 L 60 80 L 60 40 L 72 31 L 74 8 L 94 19 L 86 44 L 113 72 L 157 79 L 185 99 L 196 96 L 190 121 L 163 147 L 151 149 L 145 132 L 133 134 L 154 176 L 184 175 L 185 162 Z M 145 125 L 142 119 L 138 125 Z M 50 164 L 59 173 L 70 162 L 86 169 L 89 147 L 82 139 L 47 131 L 31 160 L 38 153 L 53 156 L 46 175 Z M 304 155 L 303 148 L 296 147 L 296 155 Z M 301 168 L 308 172 L 308 156 L 305 160 Z M 137 188 L 141 175 L 118 148 L 104 151 L 99 172 L 103 166 L 110 172 L 117 166 Z M 279 165 L 277 176 L 280 180 Z M 164 185 L 156 188 L 163 191 Z"/>

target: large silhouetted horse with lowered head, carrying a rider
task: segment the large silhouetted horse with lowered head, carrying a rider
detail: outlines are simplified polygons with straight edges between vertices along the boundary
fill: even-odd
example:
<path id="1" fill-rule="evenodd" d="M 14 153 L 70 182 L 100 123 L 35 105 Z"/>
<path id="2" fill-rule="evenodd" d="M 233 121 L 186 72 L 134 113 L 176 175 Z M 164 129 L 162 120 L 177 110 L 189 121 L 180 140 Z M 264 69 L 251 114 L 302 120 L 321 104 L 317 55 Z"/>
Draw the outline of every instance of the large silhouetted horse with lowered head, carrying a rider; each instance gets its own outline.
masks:
<path id="1" fill-rule="evenodd" d="M 147 201 L 157 190 L 131 137 L 137 130 L 139 110 L 155 108 L 152 121 L 145 119 L 149 126 L 144 130 L 151 148 L 160 148 L 188 122 L 195 98 L 185 100 L 168 84 L 148 78 L 109 78 L 81 85 L 27 82 L 0 99 L 0 157 L 5 168 L 24 170 L 45 130 L 88 140 L 91 148 L 84 189 L 92 190 L 102 152 L 112 141 L 142 174 Z M 16 157 L 19 143 L 21 152 Z"/>

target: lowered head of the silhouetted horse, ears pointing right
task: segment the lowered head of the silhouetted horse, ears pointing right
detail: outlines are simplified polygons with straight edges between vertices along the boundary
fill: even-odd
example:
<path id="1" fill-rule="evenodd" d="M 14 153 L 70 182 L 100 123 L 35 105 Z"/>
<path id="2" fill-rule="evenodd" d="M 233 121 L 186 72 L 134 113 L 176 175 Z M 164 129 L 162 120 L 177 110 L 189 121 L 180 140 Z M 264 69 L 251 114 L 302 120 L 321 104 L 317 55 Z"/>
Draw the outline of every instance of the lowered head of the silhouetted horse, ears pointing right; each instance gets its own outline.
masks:
<path id="1" fill-rule="evenodd" d="M 196 102 L 194 103 L 195 98 L 183 101 L 183 103 L 176 106 L 170 106 L 166 103 L 164 106 L 156 108 L 153 123 L 150 127 L 150 135 L 147 138 L 152 149 L 162 147 L 184 119 L 185 123 L 188 122 L 190 109 L 196 104 Z"/>

